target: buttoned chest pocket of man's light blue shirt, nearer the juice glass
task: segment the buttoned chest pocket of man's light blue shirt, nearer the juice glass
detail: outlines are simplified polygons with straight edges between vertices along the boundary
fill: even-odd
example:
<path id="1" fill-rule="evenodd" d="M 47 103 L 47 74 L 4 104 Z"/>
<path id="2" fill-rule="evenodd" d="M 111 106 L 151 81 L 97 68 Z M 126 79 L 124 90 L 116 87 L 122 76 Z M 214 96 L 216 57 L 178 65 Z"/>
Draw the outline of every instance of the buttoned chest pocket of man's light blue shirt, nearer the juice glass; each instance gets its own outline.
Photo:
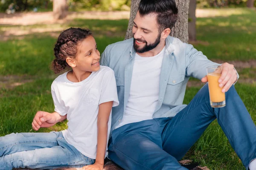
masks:
<path id="1" fill-rule="evenodd" d="M 163 103 L 172 105 L 172 106 L 182 104 L 183 98 L 184 98 L 184 96 L 182 95 L 184 78 L 185 78 L 184 74 L 169 76 L 169 79 L 166 85 L 166 93 L 163 99 Z"/>

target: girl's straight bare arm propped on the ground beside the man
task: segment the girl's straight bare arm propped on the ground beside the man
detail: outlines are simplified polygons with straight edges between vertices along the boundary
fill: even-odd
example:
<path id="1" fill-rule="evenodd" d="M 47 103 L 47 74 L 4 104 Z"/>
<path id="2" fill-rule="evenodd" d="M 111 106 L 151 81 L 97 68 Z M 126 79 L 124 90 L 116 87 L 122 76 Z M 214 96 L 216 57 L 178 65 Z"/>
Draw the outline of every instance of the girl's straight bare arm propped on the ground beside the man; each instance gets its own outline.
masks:
<path id="1" fill-rule="evenodd" d="M 107 147 L 108 138 L 108 120 L 113 106 L 113 101 L 105 102 L 99 105 L 98 113 L 98 137 L 97 137 L 97 154 L 96 161 L 92 165 L 83 167 L 84 170 L 102 170 L 104 166 L 104 159 Z"/>

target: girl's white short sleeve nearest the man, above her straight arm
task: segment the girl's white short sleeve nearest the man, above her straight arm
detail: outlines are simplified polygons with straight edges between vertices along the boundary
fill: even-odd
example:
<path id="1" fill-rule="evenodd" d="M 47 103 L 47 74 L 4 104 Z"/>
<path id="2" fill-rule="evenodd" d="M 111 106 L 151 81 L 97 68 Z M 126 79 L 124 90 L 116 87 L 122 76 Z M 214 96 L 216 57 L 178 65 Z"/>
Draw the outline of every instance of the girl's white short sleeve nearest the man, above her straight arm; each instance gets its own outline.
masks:
<path id="1" fill-rule="evenodd" d="M 110 101 L 113 101 L 113 107 L 119 105 L 116 90 L 116 79 L 113 70 L 107 71 L 103 77 L 99 105 Z"/>

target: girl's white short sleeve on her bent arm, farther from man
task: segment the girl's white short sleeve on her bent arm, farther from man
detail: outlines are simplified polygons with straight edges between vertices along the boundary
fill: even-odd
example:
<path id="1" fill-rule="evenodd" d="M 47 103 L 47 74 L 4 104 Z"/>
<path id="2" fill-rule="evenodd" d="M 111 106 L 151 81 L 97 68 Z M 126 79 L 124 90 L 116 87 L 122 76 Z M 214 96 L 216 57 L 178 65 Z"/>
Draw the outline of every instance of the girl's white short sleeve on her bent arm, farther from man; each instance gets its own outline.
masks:
<path id="1" fill-rule="evenodd" d="M 61 116 L 64 116 L 67 114 L 67 111 L 64 106 L 64 102 L 61 100 L 61 97 L 58 93 L 58 91 L 55 91 L 54 84 L 52 83 L 51 86 L 51 92 L 52 92 L 52 99 L 54 103 L 54 111 L 59 113 Z"/>

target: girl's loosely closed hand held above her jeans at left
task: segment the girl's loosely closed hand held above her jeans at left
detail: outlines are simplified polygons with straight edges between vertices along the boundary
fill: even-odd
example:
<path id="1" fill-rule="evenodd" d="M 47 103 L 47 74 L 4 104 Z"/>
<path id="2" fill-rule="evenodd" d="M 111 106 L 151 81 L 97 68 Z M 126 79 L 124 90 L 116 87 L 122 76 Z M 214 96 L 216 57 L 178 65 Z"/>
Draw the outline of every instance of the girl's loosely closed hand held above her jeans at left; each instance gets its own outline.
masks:
<path id="1" fill-rule="evenodd" d="M 38 130 L 41 127 L 51 127 L 55 125 L 57 118 L 54 113 L 48 113 L 45 111 L 38 111 L 32 122 L 32 128 Z"/>

